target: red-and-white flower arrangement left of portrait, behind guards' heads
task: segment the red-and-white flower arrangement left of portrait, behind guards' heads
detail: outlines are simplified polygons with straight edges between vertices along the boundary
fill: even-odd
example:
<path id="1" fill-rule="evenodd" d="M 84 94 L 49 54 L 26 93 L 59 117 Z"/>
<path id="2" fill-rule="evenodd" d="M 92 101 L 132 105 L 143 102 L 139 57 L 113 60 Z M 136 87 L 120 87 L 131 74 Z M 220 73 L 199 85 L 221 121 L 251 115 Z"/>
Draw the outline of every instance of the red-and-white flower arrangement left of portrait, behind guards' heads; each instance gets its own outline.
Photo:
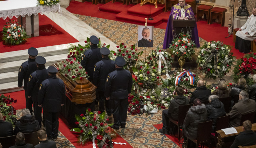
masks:
<path id="1" fill-rule="evenodd" d="M 137 63 L 138 57 L 142 55 L 143 51 L 137 53 L 137 48 L 135 48 L 135 45 L 131 46 L 125 46 L 124 43 L 121 43 L 120 46 L 117 47 L 117 53 L 112 51 L 114 53 L 114 56 L 116 57 L 123 57 L 125 59 L 126 65 L 124 67 L 129 67 L 130 69 L 132 66 L 135 66 Z"/>

